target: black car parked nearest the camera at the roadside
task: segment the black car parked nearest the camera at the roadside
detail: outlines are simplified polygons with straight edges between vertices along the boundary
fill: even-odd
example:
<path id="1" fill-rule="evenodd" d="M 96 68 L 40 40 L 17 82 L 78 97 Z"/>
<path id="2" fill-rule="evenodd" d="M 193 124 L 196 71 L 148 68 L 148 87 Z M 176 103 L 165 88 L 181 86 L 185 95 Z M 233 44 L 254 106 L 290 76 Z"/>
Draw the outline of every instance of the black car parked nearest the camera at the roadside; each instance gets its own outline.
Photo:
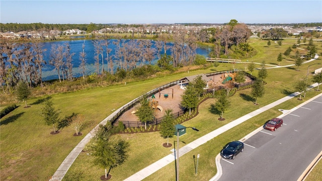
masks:
<path id="1" fill-rule="evenodd" d="M 227 159 L 234 159 L 239 152 L 244 151 L 244 143 L 240 141 L 233 141 L 227 143 L 220 151 L 220 156 Z"/>

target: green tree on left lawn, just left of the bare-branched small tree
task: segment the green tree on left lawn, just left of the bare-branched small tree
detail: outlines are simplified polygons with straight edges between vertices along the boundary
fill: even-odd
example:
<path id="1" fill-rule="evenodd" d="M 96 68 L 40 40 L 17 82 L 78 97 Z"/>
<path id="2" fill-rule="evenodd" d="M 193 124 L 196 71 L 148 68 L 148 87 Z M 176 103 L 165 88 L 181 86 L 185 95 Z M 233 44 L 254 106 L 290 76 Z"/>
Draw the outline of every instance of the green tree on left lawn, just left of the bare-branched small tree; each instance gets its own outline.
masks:
<path id="1" fill-rule="evenodd" d="M 41 115 L 43 116 L 46 124 L 48 126 L 52 125 L 54 133 L 56 133 L 56 123 L 59 122 L 59 109 L 56 110 L 52 100 L 49 98 L 46 99 L 44 106 L 41 108 Z"/>

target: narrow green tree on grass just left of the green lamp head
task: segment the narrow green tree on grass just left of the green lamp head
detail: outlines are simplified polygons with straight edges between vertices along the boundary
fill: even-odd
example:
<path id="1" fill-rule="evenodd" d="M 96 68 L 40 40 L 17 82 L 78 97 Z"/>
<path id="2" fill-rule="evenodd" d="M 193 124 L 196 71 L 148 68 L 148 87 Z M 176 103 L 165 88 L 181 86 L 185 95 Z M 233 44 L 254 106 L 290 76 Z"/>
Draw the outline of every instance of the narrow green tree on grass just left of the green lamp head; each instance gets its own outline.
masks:
<path id="1" fill-rule="evenodd" d="M 160 124 L 160 134 L 163 138 L 167 138 L 167 146 L 169 145 L 169 138 L 172 138 L 176 132 L 175 118 L 172 115 L 172 111 L 172 109 L 166 110 L 166 115 Z"/>

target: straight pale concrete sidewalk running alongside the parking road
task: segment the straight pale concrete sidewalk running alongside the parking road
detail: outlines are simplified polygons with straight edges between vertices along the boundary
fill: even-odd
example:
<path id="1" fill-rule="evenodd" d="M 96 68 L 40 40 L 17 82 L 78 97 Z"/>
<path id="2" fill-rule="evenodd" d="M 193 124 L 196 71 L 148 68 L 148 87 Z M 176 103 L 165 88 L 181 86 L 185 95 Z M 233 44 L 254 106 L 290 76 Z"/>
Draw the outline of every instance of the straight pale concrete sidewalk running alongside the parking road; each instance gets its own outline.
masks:
<path id="1" fill-rule="evenodd" d="M 311 85 L 310 87 L 316 87 L 317 86 L 317 83 Z M 188 145 L 182 147 L 179 149 L 179 155 L 182 156 L 188 152 L 190 152 L 191 150 L 197 148 L 198 146 L 206 143 L 207 141 L 217 137 L 218 135 L 224 133 L 225 131 L 245 122 L 246 120 L 268 110 L 268 109 L 271 109 L 272 107 L 275 107 L 276 105 L 279 105 L 293 97 L 296 97 L 297 95 L 299 95 L 299 92 L 295 92 L 293 94 L 290 94 L 286 97 L 283 97 L 273 103 L 270 103 L 262 108 L 259 108 L 253 112 L 250 112 L 249 114 L 246 114 L 242 117 L 239 117 L 238 119 L 236 120 L 233 120 L 232 122 L 226 124 L 225 126 L 223 127 L 220 127 L 218 128 L 217 130 L 214 130 L 208 134 L 206 134 L 205 136 L 202 136 L 201 138 L 189 143 Z M 322 94 L 320 94 L 319 96 L 321 96 Z M 283 111 L 282 111 L 283 112 Z M 284 113 L 284 112 L 283 112 Z M 261 127 L 262 128 L 262 127 Z M 179 156 L 179 157 L 180 157 Z M 164 166 L 168 165 L 169 163 L 175 161 L 175 155 L 174 153 L 172 154 L 169 154 L 168 156 L 162 158 L 162 159 L 159 159 L 158 161 L 152 163 L 151 165 L 141 169 L 140 171 L 136 172 L 135 174 L 131 175 L 130 177 L 126 178 L 125 180 L 126 181 L 137 181 L 137 180 L 142 180 L 144 179 L 145 177 L 151 175 L 153 172 L 163 168 Z"/>

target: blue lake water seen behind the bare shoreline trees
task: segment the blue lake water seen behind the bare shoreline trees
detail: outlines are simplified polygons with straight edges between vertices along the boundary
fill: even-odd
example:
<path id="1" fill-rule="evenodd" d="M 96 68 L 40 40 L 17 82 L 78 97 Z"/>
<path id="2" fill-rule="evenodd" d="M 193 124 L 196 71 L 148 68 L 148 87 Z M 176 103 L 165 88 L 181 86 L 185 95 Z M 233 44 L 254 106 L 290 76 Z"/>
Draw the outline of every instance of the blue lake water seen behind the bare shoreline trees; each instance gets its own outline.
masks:
<path id="1" fill-rule="evenodd" d="M 116 50 L 116 45 L 113 44 L 113 41 L 116 41 L 115 39 L 110 39 L 109 40 L 109 45 L 108 47 L 112 49 L 110 53 L 110 58 L 115 54 Z M 128 42 L 130 40 L 123 40 L 125 42 Z M 152 41 L 152 47 L 155 48 L 154 41 Z M 71 53 L 74 53 L 72 56 L 72 65 L 73 65 L 73 70 L 72 74 L 73 77 L 81 77 L 82 72 L 81 69 L 79 69 L 79 65 L 81 64 L 81 61 L 79 59 L 79 53 L 83 51 L 82 49 L 82 44 L 85 43 L 85 52 L 86 52 L 86 74 L 91 75 L 92 73 L 96 72 L 96 67 L 95 67 L 95 53 L 94 53 L 94 45 L 93 45 L 93 40 L 68 40 L 68 41 L 55 41 L 55 42 L 45 42 L 44 43 L 44 49 L 47 49 L 47 51 L 44 53 L 44 59 L 46 60 L 46 65 L 43 67 L 43 73 L 42 73 L 42 79 L 43 81 L 47 80 L 52 80 L 52 79 L 58 79 L 57 71 L 54 70 L 53 66 L 49 65 L 49 57 L 50 57 L 50 50 L 51 46 L 53 44 L 64 44 L 64 43 L 69 43 L 70 45 L 70 50 Z M 170 48 L 173 46 L 173 43 L 167 43 L 167 54 L 171 54 Z M 211 47 L 208 46 L 198 46 L 196 49 L 197 54 L 203 55 L 205 57 L 208 56 L 210 52 Z M 164 51 L 161 52 L 162 54 Z M 106 53 L 103 54 L 106 57 Z M 104 58 L 105 58 L 104 57 Z M 101 59 L 101 57 L 100 57 Z M 101 61 L 100 61 L 101 62 Z M 154 60 L 151 62 L 152 65 L 157 63 L 157 54 L 155 54 Z M 100 69 L 102 66 L 102 62 L 100 63 Z M 107 70 L 107 63 L 106 61 L 104 62 Z M 116 63 L 114 63 L 115 69 L 116 69 Z M 114 71 L 115 72 L 115 71 Z"/>

